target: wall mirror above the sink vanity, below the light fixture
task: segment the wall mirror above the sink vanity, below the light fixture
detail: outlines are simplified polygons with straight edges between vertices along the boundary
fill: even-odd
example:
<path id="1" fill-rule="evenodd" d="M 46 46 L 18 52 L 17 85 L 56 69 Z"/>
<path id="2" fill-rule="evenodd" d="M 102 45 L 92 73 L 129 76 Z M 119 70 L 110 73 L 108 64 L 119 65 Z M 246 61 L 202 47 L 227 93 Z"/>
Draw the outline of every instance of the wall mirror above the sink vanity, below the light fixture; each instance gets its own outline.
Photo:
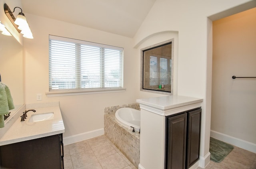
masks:
<path id="1" fill-rule="evenodd" d="M 24 104 L 23 63 L 23 46 L 14 37 L 0 33 L 1 81 L 10 89 L 14 110 Z"/>

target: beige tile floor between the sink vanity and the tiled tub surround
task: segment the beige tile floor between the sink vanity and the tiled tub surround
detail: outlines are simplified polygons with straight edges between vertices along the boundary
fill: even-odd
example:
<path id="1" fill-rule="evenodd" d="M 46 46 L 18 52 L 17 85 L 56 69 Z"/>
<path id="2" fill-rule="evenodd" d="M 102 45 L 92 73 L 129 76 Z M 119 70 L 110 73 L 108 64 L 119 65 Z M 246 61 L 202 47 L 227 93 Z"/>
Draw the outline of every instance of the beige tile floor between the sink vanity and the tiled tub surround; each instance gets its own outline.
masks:
<path id="1" fill-rule="evenodd" d="M 136 169 L 105 136 L 64 146 L 65 169 Z"/>

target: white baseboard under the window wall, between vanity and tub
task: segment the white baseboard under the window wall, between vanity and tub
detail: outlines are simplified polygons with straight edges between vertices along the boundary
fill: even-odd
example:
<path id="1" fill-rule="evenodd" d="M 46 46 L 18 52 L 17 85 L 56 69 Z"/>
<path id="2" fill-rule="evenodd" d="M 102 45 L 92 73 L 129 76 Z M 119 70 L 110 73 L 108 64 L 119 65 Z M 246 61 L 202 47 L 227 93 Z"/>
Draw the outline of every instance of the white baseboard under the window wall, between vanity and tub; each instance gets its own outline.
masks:
<path id="1" fill-rule="evenodd" d="M 73 136 L 64 137 L 63 144 L 68 145 L 68 144 L 76 143 L 78 141 L 87 140 L 87 139 L 94 138 L 101 135 L 104 135 L 104 128 L 101 128 L 98 130 L 92 130 L 90 132 L 85 132 L 81 134 L 76 134 Z"/>

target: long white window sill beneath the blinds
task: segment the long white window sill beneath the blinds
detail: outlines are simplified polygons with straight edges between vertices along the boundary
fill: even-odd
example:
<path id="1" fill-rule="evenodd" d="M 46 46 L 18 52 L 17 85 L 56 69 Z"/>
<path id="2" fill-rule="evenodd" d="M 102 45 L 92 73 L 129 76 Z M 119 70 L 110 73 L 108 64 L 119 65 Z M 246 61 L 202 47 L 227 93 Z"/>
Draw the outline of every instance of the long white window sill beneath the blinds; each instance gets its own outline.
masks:
<path id="1" fill-rule="evenodd" d="M 59 90 L 45 92 L 46 96 L 70 96 L 70 95 L 81 95 L 81 94 L 98 94 L 98 93 L 112 93 L 112 92 L 124 92 L 126 88 L 97 88 L 88 90 Z"/>

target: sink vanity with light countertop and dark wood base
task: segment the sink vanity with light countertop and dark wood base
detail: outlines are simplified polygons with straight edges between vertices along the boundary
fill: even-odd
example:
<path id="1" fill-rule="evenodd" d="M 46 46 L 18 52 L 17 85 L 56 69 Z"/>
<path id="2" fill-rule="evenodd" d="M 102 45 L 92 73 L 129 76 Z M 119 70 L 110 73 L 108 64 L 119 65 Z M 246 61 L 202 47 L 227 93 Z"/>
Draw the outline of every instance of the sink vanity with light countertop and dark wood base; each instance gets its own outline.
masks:
<path id="1" fill-rule="evenodd" d="M 63 169 L 65 128 L 58 102 L 26 105 L 26 109 L 30 108 L 36 112 L 28 112 L 25 121 L 18 116 L 0 139 L 0 166 L 3 169 Z"/>

